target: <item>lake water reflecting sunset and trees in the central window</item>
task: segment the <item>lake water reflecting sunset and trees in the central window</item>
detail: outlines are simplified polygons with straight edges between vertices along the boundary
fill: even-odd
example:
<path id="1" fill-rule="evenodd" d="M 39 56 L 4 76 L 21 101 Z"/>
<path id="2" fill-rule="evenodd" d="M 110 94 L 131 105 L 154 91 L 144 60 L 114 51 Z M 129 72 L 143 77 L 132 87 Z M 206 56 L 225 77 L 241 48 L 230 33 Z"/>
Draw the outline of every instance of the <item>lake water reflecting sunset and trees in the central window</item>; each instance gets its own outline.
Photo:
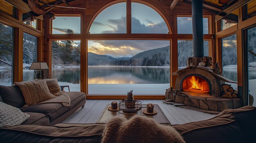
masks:
<path id="1" fill-rule="evenodd" d="M 168 67 L 88 66 L 88 84 L 168 84 Z"/>

